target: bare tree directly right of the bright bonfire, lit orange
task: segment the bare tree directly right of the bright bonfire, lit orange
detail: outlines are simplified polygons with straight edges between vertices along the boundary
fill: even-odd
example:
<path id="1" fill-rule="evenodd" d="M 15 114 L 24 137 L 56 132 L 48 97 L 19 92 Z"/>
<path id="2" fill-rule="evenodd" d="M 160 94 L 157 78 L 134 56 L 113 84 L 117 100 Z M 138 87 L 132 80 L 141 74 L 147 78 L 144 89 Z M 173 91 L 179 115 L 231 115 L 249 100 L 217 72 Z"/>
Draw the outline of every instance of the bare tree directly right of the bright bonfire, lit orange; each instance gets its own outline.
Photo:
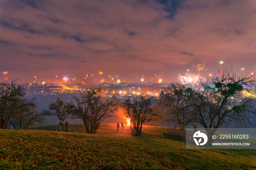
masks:
<path id="1" fill-rule="evenodd" d="M 151 108 L 150 98 L 145 98 L 143 94 L 126 99 L 121 103 L 124 108 L 124 115 L 132 120 L 132 127 L 136 132 L 136 136 L 140 136 L 142 132 L 142 124 L 151 120 L 155 120 L 156 112 Z"/>

